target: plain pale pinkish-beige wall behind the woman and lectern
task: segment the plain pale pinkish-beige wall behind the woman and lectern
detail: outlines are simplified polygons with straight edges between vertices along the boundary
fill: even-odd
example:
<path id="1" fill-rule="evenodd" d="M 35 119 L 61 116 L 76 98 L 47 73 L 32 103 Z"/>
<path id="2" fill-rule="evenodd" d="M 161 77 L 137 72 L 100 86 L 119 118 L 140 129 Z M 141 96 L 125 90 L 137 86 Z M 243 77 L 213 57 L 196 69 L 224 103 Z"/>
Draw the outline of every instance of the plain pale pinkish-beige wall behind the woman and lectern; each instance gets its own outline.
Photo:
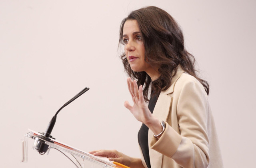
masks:
<path id="1" fill-rule="evenodd" d="M 210 83 L 226 168 L 254 167 L 256 138 L 254 0 L 0 0 L 0 167 L 74 167 L 58 151 L 31 150 L 20 163 L 28 128 L 43 132 L 64 108 L 52 135 L 84 151 L 117 149 L 139 157 L 140 123 L 123 106 L 130 99 L 118 57 L 121 20 L 158 6 L 184 32 L 186 47 Z"/>

